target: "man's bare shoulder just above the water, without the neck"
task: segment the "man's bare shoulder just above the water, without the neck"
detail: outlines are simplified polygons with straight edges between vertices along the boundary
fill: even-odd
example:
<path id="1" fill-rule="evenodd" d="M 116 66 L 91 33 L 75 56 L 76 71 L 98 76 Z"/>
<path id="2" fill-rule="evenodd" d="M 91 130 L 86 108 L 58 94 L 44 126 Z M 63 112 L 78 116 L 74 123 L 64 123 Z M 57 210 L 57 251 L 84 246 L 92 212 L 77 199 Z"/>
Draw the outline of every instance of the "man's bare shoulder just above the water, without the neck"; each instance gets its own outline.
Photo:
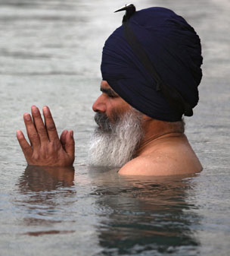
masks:
<path id="1" fill-rule="evenodd" d="M 191 147 L 166 147 L 138 156 L 123 166 L 120 175 L 182 175 L 196 173 L 202 166 Z"/>

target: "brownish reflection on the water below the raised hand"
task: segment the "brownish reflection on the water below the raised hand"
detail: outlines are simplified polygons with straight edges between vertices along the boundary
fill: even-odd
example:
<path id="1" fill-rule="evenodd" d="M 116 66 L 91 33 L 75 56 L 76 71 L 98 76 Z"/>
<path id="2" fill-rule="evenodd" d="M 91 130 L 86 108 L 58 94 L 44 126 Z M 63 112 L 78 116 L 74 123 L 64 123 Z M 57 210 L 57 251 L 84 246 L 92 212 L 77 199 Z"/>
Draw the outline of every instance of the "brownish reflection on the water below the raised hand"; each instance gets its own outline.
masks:
<path id="1" fill-rule="evenodd" d="M 63 203 L 61 198 L 74 198 L 74 168 L 73 167 L 40 167 L 27 166 L 17 184 L 19 193 L 23 196 L 16 201 L 17 207 L 26 210 L 22 225 L 25 226 L 51 226 L 61 223 L 56 219 L 55 213 Z M 58 199 L 57 199 L 58 198 Z M 70 200 L 68 200 L 70 204 Z M 61 205 L 67 207 L 67 205 Z M 54 218 L 53 218 L 54 217 Z M 56 219 L 56 220 L 55 220 Z M 73 232 L 71 230 L 42 230 L 29 231 L 27 235 L 47 235 Z"/>

